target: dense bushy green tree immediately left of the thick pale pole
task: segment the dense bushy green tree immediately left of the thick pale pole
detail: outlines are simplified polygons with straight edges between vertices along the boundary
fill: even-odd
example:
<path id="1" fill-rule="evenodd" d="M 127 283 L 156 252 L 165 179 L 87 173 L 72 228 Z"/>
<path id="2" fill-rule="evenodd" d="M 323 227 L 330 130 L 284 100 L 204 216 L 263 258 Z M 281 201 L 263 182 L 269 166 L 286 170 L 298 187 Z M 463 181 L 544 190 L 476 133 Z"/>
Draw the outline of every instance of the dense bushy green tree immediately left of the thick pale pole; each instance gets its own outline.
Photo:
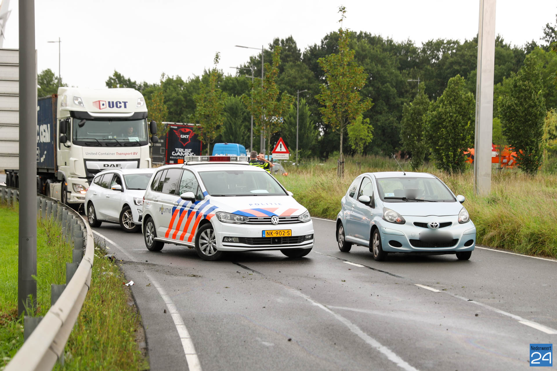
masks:
<path id="1" fill-rule="evenodd" d="M 439 169 L 462 172 L 464 151 L 474 142 L 475 100 L 466 81 L 457 75 L 447 83 L 441 97 L 429 108 L 425 122 L 426 142 Z"/>

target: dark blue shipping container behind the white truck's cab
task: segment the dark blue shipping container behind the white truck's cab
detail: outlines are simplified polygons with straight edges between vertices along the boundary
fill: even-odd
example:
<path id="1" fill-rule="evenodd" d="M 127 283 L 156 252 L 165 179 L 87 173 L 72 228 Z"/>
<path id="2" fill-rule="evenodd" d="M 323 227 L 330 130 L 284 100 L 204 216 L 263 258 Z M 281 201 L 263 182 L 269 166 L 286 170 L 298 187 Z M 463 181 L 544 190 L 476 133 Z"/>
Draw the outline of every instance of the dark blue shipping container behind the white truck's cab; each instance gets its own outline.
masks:
<path id="1" fill-rule="evenodd" d="M 56 160 L 56 98 L 53 94 L 38 98 L 37 170 L 54 171 Z"/>

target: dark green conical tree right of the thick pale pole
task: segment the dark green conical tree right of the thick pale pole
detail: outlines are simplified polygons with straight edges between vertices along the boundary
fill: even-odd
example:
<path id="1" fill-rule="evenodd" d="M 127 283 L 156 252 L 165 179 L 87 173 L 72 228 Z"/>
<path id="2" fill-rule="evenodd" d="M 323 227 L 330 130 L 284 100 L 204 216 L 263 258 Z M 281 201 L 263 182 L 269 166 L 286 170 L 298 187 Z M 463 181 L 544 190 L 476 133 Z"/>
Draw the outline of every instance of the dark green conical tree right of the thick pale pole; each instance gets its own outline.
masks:
<path id="1" fill-rule="evenodd" d="M 527 55 L 499 102 L 503 134 L 516 151 L 517 166 L 530 175 L 538 172 L 542 161 L 545 102 L 540 64 L 534 54 Z"/>

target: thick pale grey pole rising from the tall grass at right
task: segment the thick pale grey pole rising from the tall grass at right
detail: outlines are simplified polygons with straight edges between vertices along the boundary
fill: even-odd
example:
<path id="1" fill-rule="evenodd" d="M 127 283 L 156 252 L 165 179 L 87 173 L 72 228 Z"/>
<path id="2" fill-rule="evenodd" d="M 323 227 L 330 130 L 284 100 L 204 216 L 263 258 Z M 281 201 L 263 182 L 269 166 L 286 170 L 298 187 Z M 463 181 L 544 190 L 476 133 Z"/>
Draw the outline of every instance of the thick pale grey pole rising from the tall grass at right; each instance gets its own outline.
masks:
<path id="1" fill-rule="evenodd" d="M 493 81 L 495 69 L 495 0 L 480 0 L 478 69 L 476 78 L 476 135 L 474 144 L 474 191 L 491 190 L 491 140 Z"/>

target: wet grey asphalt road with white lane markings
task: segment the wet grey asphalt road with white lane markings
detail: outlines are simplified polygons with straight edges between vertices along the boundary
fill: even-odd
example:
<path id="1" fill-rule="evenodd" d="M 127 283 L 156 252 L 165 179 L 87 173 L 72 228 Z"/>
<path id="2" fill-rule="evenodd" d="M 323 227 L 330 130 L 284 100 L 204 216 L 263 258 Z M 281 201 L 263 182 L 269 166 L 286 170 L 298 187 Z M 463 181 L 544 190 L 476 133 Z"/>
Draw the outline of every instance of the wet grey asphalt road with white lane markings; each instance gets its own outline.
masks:
<path id="1" fill-rule="evenodd" d="M 150 252 L 118 225 L 95 231 L 135 283 L 153 370 L 523 370 L 530 343 L 557 344 L 557 261 L 476 249 L 380 263 L 313 222 L 301 259 L 208 262 Z"/>

